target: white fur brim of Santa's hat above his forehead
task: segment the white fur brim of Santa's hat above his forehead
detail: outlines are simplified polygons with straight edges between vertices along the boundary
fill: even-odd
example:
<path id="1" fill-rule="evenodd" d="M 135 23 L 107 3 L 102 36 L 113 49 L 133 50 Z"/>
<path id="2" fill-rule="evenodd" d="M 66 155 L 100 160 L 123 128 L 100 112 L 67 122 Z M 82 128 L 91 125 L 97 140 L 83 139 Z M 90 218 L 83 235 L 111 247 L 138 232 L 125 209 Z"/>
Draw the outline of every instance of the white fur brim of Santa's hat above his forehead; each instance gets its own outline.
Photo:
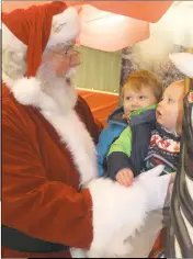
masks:
<path id="1" fill-rule="evenodd" d="M 53 16 L 53 26 L 47 47 L 75 40 L 80 32 L 78 12 L 70 7 L 63 13 Z"/>

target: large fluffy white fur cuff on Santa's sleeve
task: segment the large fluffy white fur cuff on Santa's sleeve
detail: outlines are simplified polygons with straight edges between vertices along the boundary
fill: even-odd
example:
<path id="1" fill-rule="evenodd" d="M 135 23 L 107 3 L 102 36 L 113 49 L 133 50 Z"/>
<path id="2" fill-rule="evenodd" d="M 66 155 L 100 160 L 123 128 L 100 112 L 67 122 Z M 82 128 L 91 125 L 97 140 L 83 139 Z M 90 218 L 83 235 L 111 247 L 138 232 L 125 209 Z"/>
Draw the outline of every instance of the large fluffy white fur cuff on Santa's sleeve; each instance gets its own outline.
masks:
<path id="1" fill-rule="evenodd" d="M 136 182 L 125 188 L 110 179 L 96 179 L 89 184 L 93 202 L 93 241 L 88 257 L 124 256 L 130 251 L 127 237 L 134 236 L 145 221 L 146 194 Z"/>

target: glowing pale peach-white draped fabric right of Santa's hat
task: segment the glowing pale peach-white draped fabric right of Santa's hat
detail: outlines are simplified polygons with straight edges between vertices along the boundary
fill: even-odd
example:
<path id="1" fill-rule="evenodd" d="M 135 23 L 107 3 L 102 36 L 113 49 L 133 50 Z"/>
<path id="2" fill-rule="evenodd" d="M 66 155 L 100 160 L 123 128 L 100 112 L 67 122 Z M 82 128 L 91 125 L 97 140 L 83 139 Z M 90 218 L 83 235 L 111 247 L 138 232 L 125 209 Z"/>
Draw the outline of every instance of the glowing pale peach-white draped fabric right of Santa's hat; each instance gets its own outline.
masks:
<path id="1" fill-rule="evenodd" d="M 80 45 L 116 52 L 149 37 L 148 22 L 101 11 L 90 4 L 80 12 Z"/>

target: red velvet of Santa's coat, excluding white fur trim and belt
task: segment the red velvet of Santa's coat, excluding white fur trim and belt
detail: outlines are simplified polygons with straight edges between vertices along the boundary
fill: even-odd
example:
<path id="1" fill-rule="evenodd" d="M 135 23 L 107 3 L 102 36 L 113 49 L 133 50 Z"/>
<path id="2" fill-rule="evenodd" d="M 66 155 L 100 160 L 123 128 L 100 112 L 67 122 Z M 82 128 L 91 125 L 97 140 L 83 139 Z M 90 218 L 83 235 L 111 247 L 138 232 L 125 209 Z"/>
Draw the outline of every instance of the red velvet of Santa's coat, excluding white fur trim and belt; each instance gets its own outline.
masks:
<path id="1" fill-rule="evenodd" d="M 99 130 L 82 98 L 76 111 L 96 142 Z M 71 153 L 54 127 L 36 109 L 19 104 L 3 85 L 2 224 L 42 240 L 88 249 L 92 201 L 79 183 Z"/>

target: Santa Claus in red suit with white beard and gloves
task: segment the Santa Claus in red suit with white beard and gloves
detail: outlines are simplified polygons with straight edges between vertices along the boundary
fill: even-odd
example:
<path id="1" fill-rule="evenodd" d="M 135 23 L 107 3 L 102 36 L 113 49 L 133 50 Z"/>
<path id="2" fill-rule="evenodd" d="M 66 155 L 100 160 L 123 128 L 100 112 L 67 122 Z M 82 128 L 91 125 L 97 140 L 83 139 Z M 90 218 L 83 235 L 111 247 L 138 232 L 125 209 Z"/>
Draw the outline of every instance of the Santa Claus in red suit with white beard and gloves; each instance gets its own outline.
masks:
<path id="1" fill-rule="evenodd" d="M 2 13 L 2 257 L 124 256 L 164 204 L 162 167 L 128 189 L 96 179 L 99 127 L 71 82 L 79 30 L 64 2 Z"/>

